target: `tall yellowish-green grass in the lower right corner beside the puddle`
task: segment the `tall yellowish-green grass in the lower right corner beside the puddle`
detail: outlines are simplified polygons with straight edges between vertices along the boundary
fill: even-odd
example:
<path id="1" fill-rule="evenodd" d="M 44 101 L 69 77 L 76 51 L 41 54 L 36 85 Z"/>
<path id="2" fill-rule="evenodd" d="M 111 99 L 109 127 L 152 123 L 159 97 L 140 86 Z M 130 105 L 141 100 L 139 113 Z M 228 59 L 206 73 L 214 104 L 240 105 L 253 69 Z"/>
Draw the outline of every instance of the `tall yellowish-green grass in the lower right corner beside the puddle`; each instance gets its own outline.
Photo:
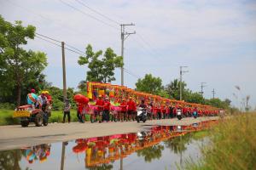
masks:
<path id="1" fill-rule="evenodd" d="M 201 161 L 186 161 L 185 169 L 256 169 L 256 113 L 220 120 L 209 137 Z"/>

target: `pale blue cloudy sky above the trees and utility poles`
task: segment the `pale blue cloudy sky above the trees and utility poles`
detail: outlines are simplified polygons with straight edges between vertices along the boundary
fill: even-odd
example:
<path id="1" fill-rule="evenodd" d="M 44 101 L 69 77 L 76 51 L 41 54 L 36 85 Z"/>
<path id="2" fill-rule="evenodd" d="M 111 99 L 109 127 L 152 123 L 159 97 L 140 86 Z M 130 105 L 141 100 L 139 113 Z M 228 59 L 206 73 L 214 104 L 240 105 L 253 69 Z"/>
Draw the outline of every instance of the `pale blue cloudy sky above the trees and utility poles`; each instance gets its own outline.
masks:
<path id="1" fill-rule="evenodd" d="M 166 85 L 179 78 L 179 66 L 186 65 L 189 72 L 183 81 L 192 91 L 201 91 L 201 82 L 207 82 L 207 99 L 214 88 L 216 97 L 236 106 L 250 95 L 249 105 L 256 107 L 255 0 L 0 0 L 0 14 L 81 51 L 90 43 L 94 50 L 110 47 L 119 55 L 119 24 L 134 23 L 125 27 L 136 31 L 125 39 L 125 69 L 130 73 L 125 72 L 125 86 L 135 88 L 137 79 L 148 73 Z M 47 54 L 46 79 L 62 88 L 61 48 L 38 37 L 26 48 Z M 88 71 L 78 59 L 79 54 L 66 50 L 71 88 L 77 88 Z M 115 77 L 113 83 L 120 84 L 120 69 Z"/>

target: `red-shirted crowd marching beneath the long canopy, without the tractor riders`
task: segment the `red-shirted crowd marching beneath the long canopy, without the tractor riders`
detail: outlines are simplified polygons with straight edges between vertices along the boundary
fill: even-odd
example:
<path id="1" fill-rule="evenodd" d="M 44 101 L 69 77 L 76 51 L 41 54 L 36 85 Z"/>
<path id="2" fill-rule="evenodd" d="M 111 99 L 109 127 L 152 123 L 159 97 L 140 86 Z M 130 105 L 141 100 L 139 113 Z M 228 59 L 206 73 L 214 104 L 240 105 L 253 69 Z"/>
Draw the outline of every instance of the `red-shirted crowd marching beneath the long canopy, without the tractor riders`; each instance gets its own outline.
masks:
<path id="1" fill-rule="evenodd" d="M 144 108 L 147 111 L 148 120 L 171 119 L 176 117 L 178 110 L 186 117 L 192 116 L 193 112 L 196 112 L 198 116 L 214 116 L 218 114 L 217 110 L 212 111 L 189 105 L 160 104 L 153 101 L 147 103 L 143 99 L 140 103 L 137 103 L 131 97 L 122 99 L 119 105 L 112 105 L 108 97 L 102 98 L 101 95 L 96 99 L 95 105 L 77 103 L 77 108 L 79 122 L 84 122 L 85 114 L 90 114 L 91 122 L 96 122 L 97 120 L 98 122 L 136 121 L 138 108 Z"/>

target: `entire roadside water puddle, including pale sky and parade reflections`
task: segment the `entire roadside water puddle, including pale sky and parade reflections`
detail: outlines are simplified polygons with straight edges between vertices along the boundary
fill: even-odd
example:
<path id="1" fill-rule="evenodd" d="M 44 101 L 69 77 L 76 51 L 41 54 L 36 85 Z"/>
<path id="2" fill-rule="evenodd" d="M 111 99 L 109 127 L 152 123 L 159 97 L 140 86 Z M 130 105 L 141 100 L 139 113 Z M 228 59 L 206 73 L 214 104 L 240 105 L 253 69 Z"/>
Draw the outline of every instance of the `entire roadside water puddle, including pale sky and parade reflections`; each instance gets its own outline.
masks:
<path id="1" fill-rule="evenodd" d="M 155 126 L 115 134 L 0 151 L 0 169 L 176 169 L 197 161 L 215 121 L 189 126 Z"/>

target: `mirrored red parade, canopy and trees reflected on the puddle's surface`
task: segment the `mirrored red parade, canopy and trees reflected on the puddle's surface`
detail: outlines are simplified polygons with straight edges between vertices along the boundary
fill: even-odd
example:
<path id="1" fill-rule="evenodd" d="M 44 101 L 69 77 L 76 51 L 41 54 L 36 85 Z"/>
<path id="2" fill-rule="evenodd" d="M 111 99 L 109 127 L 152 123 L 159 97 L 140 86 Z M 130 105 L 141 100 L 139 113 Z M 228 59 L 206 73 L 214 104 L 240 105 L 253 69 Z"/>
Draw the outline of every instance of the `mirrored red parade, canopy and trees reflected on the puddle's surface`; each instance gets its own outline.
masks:
<path id="1" fill-rule="evenodd" d="M 186 146 L 189 142 L 199 139 L 198 136 L 194 137 L 194 133 L 191 132 L 201 131 L 214 123 L 216 122 L 201 122 L 182 127 L 151 127 L 147 132 L 76 139 L 75 143 L 70 142 L 70 144 L 72 144 L 71 146 L 74 144 L 72 152 L 76 156 L 84 155 L 84 166 L 87 169 L 113 169 L 114 166 L 114 168 L 123 169 L 125 158 L 133 153 L 149 163 L 159 160 L 165 148 L 170 149 L 171 153 L 179 155 L 180 165 L 182 166 L 182 157 L 183 152 L 187 150 Z M 70 152 L 70 144 L 68 146 L 67 144 L 67 142 L 63 142 L 61 150 L 59 150 L 61 169 L 67 169 L 66 166 L 69 166 L 69 164 L 65 164 L 65 161 L 69 161 L 65 159 L 67 155 L 65 152 Z M 26 159 L 29 164 L 44 162 L 50 155 L 50 147 L 50 144 L 39 144 L 20 150 L 1 151 L 0 169 L 20 169 L 21 157 Z M 119 164 L 118 167 L 116 167 L 117 163 Z"/>

